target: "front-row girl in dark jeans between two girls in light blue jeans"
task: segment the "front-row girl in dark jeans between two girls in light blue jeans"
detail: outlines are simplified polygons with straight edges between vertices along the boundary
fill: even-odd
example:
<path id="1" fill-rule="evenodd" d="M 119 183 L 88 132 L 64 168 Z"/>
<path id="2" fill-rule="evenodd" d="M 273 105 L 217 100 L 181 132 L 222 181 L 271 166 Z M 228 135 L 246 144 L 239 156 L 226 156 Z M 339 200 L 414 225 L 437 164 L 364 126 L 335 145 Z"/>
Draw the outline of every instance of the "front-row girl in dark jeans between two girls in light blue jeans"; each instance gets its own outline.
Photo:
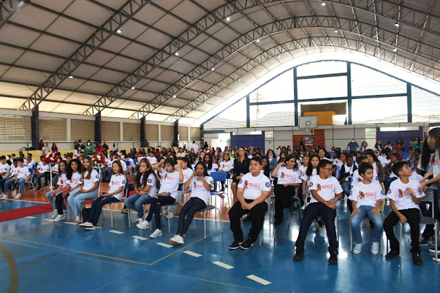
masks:
<path id="1" fill-rule="evenodd" d="M 123 166 L 121 162 L 116 160 L 113 162 L 112 168 L 113 175 L 109 182 L 109 191 L 93 200 L 89 218 L 84 224 L 79 225 L 85 227 L 87 230 L 96 230 L 96 225 L 98 225 L 98 219 L 103 210 L 103 206 L 111 204 L 112 202 L 119 202 L 124 195 L 127 178 L 125 178 Z"/>

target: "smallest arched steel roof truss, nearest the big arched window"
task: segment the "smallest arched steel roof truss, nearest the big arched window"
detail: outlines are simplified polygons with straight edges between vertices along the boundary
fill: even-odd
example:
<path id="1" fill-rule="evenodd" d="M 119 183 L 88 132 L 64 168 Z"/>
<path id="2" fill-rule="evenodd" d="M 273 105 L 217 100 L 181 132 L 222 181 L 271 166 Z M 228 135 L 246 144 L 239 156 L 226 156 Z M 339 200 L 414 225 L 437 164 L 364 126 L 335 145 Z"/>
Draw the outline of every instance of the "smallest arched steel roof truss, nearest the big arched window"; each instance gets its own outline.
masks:
<path id="1" fill-rule="evenodd" d="M 364 47 L 366 49 L 366 52 L 362 54 L 368 54 L 370 56 L 377 56 L 377 50 L 379 50 L 381 59 L 388 62 L 392 61 L 392 59 L 395 56 L 395 52 L 393 52 L 392 50 L 388 50 L 388 48 L 377 48 L 377 46 L 374 44 L 374 40 L 372 40 L 373 43 L 366 43 L 364 41 L 359 41 L 357 39 L 348 39 L 341 37 L 329 38 L 324 36 L 314 37 L 313 39 L 314 39 L 313 41 L 320 47 L 343 47 L 349 50 L 356 50 L 356 51 L 359 51 L 362 47 Z M 349 43 L 347 43 L 347 41 Z M 255 58 L 251 59 L 251 61 L 244 64 L 242 67 L 256 67 L 255 66 L 256 64 L 265 63 L 266 61 L 269 61 L 271 58 L 276 58 L 277 54 L 280 54 L 280 52 L 282 51 L 286 52 L 286 51 L 298 50 L 300 49 L 300 47 L 314 47 L 314 45 L 311 44 L 309 38 L 293 40 L 283 43 L 281 45 L 275 45 L 274 47 L 265 50 L 258 56 L 255 56 Z M 386 53 L 389 54 L 387 55 Z M 410 66 L 411 61 L 412 60 L 410 58 L 401 56 L 401 58 L 397 61 L 397 63 L 404 63 Z M 423 65 L 419 64 L 419 67 L 422 66 Z M 220 91 L 226 89 L 232 83 L 237 82 L 238 77 L 240 76 L 238 76 L 238 70 L 237 70 L 232 74 L 230 74 L 227 78 L 220 80 L 218 83 L 216 83 L 216 85 L 213 85 L 213 87 L 207 89 L 205 93 L 194 98 L 191 102 L 187 103 L 187 105 L 181 107 L 181 109 L 176 111 L 174 114 L 170 115 L 164 121 L 174 122 L 182 117 L 187 116 L 187 114 L 196 110 L 198 107 L 200 107 L 205 102 L 210 100 L 213 96 L 216 96 L 216 94 L 218 94 Z"/>

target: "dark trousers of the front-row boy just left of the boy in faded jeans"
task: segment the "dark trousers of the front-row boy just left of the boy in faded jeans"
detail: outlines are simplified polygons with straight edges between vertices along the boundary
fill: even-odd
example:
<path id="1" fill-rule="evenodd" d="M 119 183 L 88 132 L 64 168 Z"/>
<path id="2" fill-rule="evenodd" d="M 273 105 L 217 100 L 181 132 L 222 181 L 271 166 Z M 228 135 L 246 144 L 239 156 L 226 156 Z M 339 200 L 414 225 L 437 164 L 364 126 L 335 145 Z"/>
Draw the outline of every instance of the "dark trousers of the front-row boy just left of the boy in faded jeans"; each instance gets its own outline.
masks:
<path id="1" fill-rule="evenodd" d="M 337 252 L 337 238 L 336 238 L 336 228 L 335 228 L 335 217 L 336 210 L 329 208 L 325 204 L 320 202 L 314 202 L 313 204 L 308 204 L 304 209 L 304 213 L 301 220 L 300 232 L 298 233 L 298 238 L 295 242 L 297 250 L 304 251 L 304 243 L 306 241 L 308 227 L 312 222 L 321 216 L 324 219 L 324 224 L 326 225 L 328 243 L 328 252 Z"/>

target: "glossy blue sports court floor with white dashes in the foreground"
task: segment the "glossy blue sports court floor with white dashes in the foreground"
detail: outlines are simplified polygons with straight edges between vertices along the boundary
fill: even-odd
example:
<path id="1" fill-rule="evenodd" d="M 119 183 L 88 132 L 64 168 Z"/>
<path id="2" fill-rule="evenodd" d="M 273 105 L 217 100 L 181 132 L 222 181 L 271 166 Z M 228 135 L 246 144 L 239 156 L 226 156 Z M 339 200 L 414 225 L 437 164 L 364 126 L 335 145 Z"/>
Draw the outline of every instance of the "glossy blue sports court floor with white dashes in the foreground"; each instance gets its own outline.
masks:
<path id="1" fill-rule="evenodd" d="M 30 205 L 2 200 L 0 211 Z M 250 250 L 232 251 L 227 249 L 233 240 L 228 222 L 222 223 L 222 234 L 218 221 L 208 221 L 205 240 L 203 221 L 196 219 L 197 229 L 194 231 L 191 225 L 185 245 L 167 248 L 158 243 L 169 243 L 176 232 L 177 218 L 171 221 L 171 235 L 165 226 L 164 235 L 157 239 L 149 239 L 149 230 L 138 230 L 136 226 L 129 229 L 127 214 L 119 211 L 114 213 L 114 228 L 110 227 L 109 211 L 105 210 L 103 227 L 95 231 L 64 221 L 48 221 L 52 213 L 4 221 L 0 223 L 0 292 L 440 291 L 440 263 L 432 261 L 428 246 L 422 246 L 423 266 L 412 264 L 408 225 L 404 226 L 407 230 L 401 259 L 386 260 L 370 253 L 368 221 L 364 221 L 362 229 L 366 242 L 363 250 L 352 254 L 346 207 L 343 202 L 338 205 L 338 265 L 327 264 L 325 228 L 315 232 L 313 226 L 304 261 L 292 261 L 300 224 L 298 212 L 291 214 L 290 226 L 277 226 L 275 246 L 266 217 L 262 246 L 257 242 Z M 250 222 L 245 222 L 244 227 L 247 233 Z M 216 261 L 225 265 L 213 264 Z M 227 265 L 233 268 L 224 268 Z M 261 279 L 254 281 L 247 277 L 250 275 Z"/>

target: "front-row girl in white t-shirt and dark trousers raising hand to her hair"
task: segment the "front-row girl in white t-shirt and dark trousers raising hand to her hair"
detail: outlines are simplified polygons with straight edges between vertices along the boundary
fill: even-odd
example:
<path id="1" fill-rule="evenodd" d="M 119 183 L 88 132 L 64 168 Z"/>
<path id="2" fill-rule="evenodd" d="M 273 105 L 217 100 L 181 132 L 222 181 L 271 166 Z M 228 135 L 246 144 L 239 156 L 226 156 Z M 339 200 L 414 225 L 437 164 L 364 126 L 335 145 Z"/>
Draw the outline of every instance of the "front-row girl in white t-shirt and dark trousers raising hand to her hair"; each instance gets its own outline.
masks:
<path id="1" fill-rule="evenodd" d="M 162 164 L 164 164 L 163 169 L 160 167 Z M 179 164 L 182 164 L 181 161 L 179 161 Z M 177 166 L 176 169 L 175 166 Z M 160 223 L 160 210 L 162 209 L 162 206 L 174 204 L 176 200 L 180 202 L 179 197 L 181 195 L 178 192 L 178 188 L 179 183 L 183 181 L 182 168 L 180 168 L 179 165 L 176 165 L 173 158 L 160 160 L 160 162 L 154 164 L 154 168 L 161 173 L 162 176 L 160 190 L 158 195 L 151 199 L 149 212 L 145 221 L 136 225 L 139 229 L 147 229 L 149 228 L 151 219 L 155 216 L 156 230 L 149 235 L 150 238 L 156 238 L 163 235 L 162 224 Z"/>

